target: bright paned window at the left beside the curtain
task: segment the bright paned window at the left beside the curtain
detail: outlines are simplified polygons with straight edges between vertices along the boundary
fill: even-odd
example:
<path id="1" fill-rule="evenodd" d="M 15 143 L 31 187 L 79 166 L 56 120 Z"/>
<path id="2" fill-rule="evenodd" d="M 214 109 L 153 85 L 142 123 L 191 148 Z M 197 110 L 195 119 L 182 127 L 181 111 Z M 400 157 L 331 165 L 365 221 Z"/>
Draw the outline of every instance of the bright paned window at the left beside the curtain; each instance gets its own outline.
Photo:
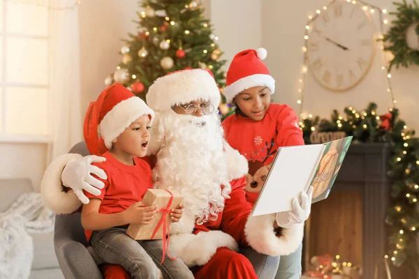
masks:
<path id="1" fill-rule="evenodd" d="M 49 10 L 0 1 L 0 142 L 47 142 Z"/>

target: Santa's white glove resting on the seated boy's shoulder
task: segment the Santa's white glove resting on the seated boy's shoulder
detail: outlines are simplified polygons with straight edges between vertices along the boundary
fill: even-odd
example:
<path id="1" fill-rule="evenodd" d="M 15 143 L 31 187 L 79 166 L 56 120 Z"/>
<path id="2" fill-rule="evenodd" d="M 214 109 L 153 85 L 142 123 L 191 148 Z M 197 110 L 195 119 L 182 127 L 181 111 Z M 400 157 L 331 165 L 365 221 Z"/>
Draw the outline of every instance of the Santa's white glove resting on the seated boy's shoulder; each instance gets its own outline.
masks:
<path id="1" fill-rule="evenodd" d="M 61 174 L 61 181 L 63 185 L 73 189 L 75 195 L 82 201 L 83 204 L 89 203 L 89 198 L 84 195 L 83 190 L 91 193 L 91 195 L 101 195 L 101 190 L 105 184 L 95 179 L 91 174 L 96 174 L 100 179 L 107 179 L 103 169 L 100 169 L 91 163 L 105 162 L 106 158 L 99 156 L 86 156 L 78 160 L 69 160 L 66 167 L 64 167 Z"/>

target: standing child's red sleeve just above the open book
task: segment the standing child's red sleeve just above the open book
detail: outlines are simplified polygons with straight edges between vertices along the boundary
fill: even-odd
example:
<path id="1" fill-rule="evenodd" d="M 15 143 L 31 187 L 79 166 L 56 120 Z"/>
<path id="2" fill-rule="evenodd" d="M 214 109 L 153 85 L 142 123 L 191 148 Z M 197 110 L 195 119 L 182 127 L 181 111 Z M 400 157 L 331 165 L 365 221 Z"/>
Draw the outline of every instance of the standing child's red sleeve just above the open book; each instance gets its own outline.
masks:
<path id="1" fill-rule="evenodd" d="M 277 116 L 277 135 L 279 146 L 304 145 L 297 114 L 288 105 Z"/>

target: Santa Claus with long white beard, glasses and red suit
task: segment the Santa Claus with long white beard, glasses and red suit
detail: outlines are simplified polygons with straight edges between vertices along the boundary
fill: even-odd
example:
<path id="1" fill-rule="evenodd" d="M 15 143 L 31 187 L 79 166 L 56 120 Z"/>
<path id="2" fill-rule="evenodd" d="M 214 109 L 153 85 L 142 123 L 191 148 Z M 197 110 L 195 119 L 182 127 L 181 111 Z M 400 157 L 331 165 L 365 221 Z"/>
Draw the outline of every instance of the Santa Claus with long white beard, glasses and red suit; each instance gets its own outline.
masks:
<path id="1" fill-rule="evenodd" d="M 156 116 L 148 153 L 155 163 L 155 187 L 184 195 L 182 219 L 170 227 L 170 247 L 196 278 L 258 278 L 240 252 L 248 247 L 271 256 L 294 252 L 302 242 L 311 197 L 302 193 L 294 211 L 250 215 L 244 195 L 247 160 L 223 140 L 215 109 L 220 98 L 209 70 L 178 71 L 150 86 L 147 104 Z M 103 185 L 91 173 L 106 178 L 90 165 L 95 160 L 103 159 L 66 154 L 54 160 L 41 185 L 45 204 L 56 213 L 72 213 L 89 202 L 82 190 L 100 193 Z"/>

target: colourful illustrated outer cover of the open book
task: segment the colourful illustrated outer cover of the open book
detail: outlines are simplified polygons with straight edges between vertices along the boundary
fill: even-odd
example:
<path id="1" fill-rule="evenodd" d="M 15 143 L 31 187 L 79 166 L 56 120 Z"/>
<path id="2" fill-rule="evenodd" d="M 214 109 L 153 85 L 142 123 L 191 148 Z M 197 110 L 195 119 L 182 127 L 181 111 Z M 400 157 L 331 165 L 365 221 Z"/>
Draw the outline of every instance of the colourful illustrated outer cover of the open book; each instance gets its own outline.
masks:
<path id="1" fill-rule="evenodd" d="M 351 140 L 352 137 L 346 137 L 341 140 L 325 143 L 325 150 L 310 183 L 314 188 L 312 202 L 318 202 L 328 197 L 330 188 L 332 188 L 339 173 Z"/>

